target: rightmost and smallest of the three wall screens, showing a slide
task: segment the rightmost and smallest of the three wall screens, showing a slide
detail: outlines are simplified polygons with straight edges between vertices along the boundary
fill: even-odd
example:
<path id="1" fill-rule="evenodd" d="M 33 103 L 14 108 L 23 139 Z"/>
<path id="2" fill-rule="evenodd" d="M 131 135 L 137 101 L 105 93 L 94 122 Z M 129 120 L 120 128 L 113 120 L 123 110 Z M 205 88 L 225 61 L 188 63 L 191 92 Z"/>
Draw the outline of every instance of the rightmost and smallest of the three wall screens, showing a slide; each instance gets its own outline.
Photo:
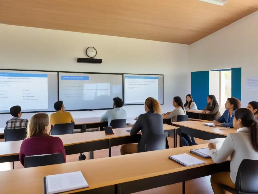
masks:
<path id="1" fill-rule="evenodd" d="M 125 105 L 144 104 L 153 97 L 163 103 L 163 75 L 124 74 Z"/>

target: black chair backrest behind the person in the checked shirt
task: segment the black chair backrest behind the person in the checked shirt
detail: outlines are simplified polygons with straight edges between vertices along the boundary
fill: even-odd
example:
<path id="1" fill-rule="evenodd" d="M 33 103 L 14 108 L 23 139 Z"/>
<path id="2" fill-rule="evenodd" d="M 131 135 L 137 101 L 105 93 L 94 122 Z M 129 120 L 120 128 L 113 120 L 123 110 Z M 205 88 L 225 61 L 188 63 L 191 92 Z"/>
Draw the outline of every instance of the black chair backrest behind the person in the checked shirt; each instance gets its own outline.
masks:
<path id="1" fill-rule="evenodd" d="M 4 129 L 4 141 L 20 141 L 27 136 L 27 129 Z"/>

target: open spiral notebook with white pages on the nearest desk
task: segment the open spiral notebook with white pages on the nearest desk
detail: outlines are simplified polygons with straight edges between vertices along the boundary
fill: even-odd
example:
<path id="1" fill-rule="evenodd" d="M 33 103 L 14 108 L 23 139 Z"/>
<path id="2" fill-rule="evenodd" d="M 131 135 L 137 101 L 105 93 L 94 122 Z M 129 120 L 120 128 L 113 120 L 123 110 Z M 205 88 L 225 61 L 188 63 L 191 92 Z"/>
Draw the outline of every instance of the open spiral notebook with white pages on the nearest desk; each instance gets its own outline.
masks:
<path id="1" fill-rule="evenodd" d="M 175 162 L 183 166 L 195 166 L 195 165 L 200 165 L 205 163 L 204 161 L 199 160 L 187 153 L 169 156 L 168 158 L 171 160 L 174 160 Z"/>

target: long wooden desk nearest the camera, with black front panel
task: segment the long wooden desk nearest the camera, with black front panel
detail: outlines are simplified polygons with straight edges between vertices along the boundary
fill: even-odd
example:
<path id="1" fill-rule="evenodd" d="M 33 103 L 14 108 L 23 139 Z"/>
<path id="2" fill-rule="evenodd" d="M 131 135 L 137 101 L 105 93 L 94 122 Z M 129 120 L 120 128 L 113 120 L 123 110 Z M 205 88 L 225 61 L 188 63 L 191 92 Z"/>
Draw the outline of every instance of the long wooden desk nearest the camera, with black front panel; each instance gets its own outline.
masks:
<path id="1" fill-rule="evenodd" d="M 190 149 L 204 147 L 207 147 L 207 144 L 2 171 L 1 193 L 43 193 L 43 177 L 74 171 L 82 171 L 90 187 L 67 193 L 84 191 L 86 194 L 128 194 L 226 171 L 229 161 L 214 164 L 212 159 L 204 159 L 190 153 Z M 184 167 L 168 159 L 170 155 L 182 153 L 188 153 L 206 163 Z"/>

